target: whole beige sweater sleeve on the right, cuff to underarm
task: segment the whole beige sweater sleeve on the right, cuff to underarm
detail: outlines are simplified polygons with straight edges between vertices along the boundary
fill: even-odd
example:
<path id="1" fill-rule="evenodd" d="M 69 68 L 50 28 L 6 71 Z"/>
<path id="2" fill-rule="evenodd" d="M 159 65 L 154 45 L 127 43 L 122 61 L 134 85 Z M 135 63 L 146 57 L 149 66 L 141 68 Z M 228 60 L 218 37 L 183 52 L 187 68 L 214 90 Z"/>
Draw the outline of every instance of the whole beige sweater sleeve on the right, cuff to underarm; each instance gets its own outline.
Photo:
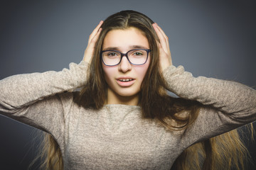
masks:
<path id="1" fill-rule="evenodd" d="M 198 118 L 185 130 L 183 144 L 220 135 L 256 120 L 256 91 L 234 81 L 193 77 L 182 66 L 164 70 L 168 90 L 203 104 Z"/>

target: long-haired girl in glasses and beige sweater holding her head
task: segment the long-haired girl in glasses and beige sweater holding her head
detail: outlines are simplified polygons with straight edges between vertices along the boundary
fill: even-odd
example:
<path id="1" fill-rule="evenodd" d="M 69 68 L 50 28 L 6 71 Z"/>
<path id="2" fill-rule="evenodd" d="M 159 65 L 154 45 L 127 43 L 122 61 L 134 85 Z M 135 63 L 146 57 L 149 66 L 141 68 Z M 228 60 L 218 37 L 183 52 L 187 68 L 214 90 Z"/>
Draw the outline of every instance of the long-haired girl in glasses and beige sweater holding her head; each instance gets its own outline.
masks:
<path id="1" fill-rule="evenodd" d="M 47 169 L 239 169 L 234 129 L 256 120 L 255 90 L 175 67 L 164 31 L 136 11 L 101 21 L 80 64 L 1 80 L 0 98 L 50 134 Z"/>

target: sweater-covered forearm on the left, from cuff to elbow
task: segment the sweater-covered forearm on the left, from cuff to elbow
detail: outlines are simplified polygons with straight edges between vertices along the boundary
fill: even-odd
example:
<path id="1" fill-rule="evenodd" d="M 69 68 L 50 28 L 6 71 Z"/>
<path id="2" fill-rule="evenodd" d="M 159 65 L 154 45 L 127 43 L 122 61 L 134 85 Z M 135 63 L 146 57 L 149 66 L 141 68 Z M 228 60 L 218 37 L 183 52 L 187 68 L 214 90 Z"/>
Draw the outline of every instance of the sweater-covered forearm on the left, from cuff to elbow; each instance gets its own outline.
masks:
<path id="1" fill-rule="evenodd" d="M 73 91 L 85 84 L 85 62 L 70 64 L 60 72 L 19 74 L 0 81 L 0 111 L 11 112 L 47 96 Z"/>

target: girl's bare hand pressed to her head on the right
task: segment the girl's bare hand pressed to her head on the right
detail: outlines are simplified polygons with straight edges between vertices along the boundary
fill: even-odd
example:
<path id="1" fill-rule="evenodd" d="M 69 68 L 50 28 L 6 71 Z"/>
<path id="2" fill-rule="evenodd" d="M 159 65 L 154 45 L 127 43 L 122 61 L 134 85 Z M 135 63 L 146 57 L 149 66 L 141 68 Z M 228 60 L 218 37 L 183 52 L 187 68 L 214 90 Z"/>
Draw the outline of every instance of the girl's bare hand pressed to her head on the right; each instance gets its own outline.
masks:
<path id="1" fill-rule="evenodd" d="M 164 33 L 157 23 L 153 23 L 154 30 L 159 38 L 159 64 L 161 72 L 167 67 L 172 65 L 171 62 L 171 50 L 169 47 L 169 38 Z"/>

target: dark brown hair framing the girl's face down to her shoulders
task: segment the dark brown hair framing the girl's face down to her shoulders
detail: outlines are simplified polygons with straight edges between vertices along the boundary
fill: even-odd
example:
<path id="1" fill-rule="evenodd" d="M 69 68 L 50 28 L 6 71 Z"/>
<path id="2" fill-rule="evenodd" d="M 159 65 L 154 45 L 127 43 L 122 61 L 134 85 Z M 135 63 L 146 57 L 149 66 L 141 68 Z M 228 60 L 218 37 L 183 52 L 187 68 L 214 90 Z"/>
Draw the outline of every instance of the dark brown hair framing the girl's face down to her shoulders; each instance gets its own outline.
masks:
<path id="1" fill-rule="evenodd" d="M 164 125 L 165 118 L 169 117 L 180 123 L 183 127 L 191 122 L 188 119 L 196 118 L 196 111 L 188 118 L 181 118 L 176 113 L 194 108 L 194 101 L 186 101 L 182 98 L 171 98 L 166 94 L 166 82 L 159 70 L 159 48 L 157 45 L 158 37 L 152 26 L 153 21 L 142 13 L 136 11 L 121 11 L 108 17 L 102 24 L 102 32 L 95 47 L 95 57 L 92 58 L 87 84 L 80 91 L 78 103 L 85 108 L 100 109 L 107 99 L 107 83 L 105 81 L 102 64 L 100 61 L 100 51 L 105 36 L 110 30 L 138 28 L 149 41 L 151 49 L 151 62 L 142 81 L 141 91 L 139 93 L 139 106 L 142 106 L 142 115 L 144 118 L 156 118 Z M 90 96 L 88 98 L 87 96 Z"/>

